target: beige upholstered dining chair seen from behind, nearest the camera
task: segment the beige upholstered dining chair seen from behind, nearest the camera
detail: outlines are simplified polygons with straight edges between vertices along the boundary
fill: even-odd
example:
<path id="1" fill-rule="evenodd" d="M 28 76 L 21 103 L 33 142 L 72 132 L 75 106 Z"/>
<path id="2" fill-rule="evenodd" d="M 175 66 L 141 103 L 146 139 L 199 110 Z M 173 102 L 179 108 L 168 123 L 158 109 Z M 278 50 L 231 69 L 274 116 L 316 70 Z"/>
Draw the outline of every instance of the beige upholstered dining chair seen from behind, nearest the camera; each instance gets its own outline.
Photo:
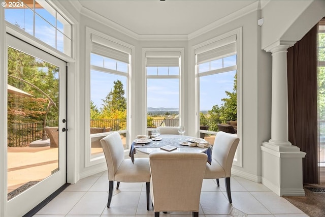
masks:
<path id="1" fill-rule="evenodd" d="M 149 162 L 155 217 L 160 211 L 191 211 L 198 216 L 207 154 L 155 152 L 149 154 Z"/>

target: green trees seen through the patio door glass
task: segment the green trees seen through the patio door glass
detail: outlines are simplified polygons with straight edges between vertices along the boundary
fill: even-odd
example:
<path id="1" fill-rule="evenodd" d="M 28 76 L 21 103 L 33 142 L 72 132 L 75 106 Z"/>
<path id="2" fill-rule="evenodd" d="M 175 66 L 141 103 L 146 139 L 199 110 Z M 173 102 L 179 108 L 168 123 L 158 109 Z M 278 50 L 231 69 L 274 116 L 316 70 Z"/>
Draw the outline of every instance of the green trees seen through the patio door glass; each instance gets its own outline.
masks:
<path id="1" fill-rule="evenodd" d="M 8 48 L 8 84 L 33 95 L 8 95 L 8 124 L 43 121 L 49 100 L 27 81 L 42 89 L 58 105 L 58 68 L 13 48 Z M 14 77 L 11 77 L 14 76 Z M 58 119 L 58 108 L 51 106 L 48 118 Z"/>

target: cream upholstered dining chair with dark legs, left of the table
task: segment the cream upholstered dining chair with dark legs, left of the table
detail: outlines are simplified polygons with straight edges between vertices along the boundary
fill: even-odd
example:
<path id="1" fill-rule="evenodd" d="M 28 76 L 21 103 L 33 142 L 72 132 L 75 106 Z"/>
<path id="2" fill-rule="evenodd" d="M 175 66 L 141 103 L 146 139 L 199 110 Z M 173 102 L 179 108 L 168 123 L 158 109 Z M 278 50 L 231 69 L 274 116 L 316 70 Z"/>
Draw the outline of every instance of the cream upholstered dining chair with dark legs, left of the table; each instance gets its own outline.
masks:
<path id="1" fill-rule="evenodd" d="M 110 207 L 114 189 L 114 181 L 120 182 L 146 182 L 147 210 L 150 201 L 150 167 L 148 158 L 139 158 L 133 164 L 131 159 L 124 159 L 124 148 L 121 136 L 114 132 L 101 139 L 108 169 L 109 191 L 107 208 Z"/>

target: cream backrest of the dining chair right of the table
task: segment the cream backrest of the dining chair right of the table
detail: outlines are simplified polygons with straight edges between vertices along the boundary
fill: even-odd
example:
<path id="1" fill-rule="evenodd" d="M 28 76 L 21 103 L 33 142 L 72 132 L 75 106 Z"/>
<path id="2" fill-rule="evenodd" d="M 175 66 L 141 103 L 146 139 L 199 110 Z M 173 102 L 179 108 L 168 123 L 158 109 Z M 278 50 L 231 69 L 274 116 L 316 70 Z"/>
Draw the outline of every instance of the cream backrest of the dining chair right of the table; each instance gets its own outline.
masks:
<path id="1" fill-rule="evenodd" d="M 216 160 L 225 171 L 225 177 L 231 176 L 235 152 L 239 143 L 237 134 L 219 131 L 215 137 L 212 159 Z"/>

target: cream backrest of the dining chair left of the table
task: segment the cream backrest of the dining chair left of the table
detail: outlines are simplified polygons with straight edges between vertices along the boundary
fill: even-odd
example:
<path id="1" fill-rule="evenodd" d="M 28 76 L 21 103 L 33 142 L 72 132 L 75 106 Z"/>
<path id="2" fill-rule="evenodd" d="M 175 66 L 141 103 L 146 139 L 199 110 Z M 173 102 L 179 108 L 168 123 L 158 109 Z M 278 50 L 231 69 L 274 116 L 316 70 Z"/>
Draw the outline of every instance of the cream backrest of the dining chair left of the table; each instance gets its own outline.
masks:
<path id="1" fill-rule="evenodd" d="M 113 181 L 115 173 L 121 163 L 124 161 L 124 148 L 119 133 L 114 132 L 101 139 L 107 169 L 108 179 Z"/>

